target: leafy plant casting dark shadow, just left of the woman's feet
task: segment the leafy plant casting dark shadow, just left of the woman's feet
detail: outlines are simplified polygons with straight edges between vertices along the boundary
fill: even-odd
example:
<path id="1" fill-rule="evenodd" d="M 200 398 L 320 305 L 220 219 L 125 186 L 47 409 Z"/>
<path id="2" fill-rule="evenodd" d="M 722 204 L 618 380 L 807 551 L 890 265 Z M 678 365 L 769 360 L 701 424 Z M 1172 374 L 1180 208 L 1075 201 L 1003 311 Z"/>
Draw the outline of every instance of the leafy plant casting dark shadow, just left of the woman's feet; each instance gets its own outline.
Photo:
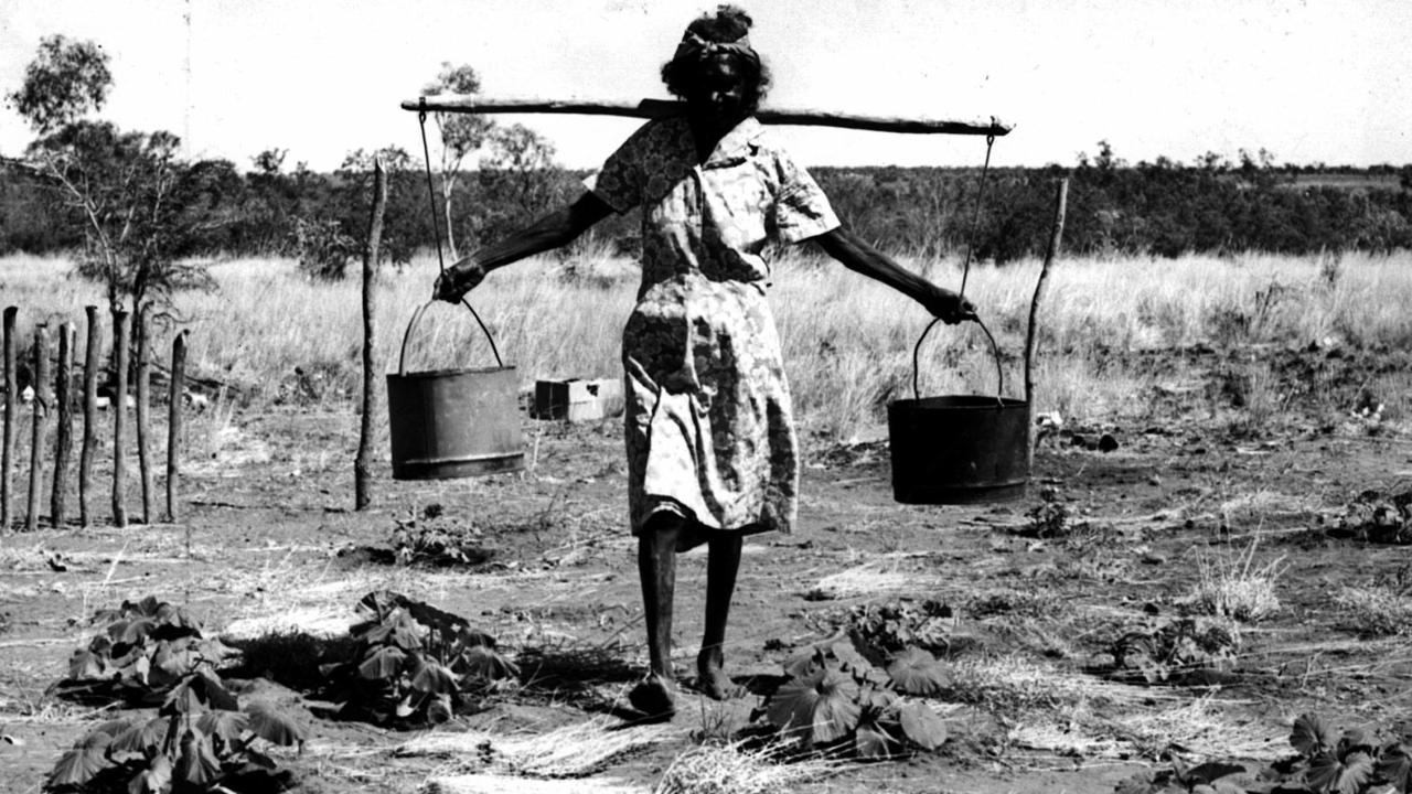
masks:
<path id="1" fill-rule="evenodd" d="M 449 721 L 520 675 L 490 634 L 390 591 L 359 602 L 352 658 L 322 667 L 340 716 L 408 728 Z"/>

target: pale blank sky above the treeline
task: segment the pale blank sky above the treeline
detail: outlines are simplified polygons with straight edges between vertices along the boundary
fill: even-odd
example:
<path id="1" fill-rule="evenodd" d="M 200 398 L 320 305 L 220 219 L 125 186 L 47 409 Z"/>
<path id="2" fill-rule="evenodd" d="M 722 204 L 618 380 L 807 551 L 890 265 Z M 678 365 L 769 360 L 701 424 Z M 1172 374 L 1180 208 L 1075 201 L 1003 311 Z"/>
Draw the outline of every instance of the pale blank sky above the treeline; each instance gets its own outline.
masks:
<path id="1" fill-rule="evenodd" d="M 767 106 L 1014 124 L 993 164 L 1130 162 L 1216 151 L 1276 162 L 1412 162 L 1412 0 L 740 0 L 772 72 Z M 658 69 L 713 0 L 3 0 L 0 93 L 40 40 L 112 57 L 102 116 L 164 129 L 192 158 L 287 167 L 419 155 L 401 110 L 443 62 L 483 92 L 666 97 Z M 640 120 L 497 116 L 593 168 Z M 428 134 L 435 127 L 428 124 Z M 984 140 L 781 127 L 809 165 L 979 165 Z M 32 131 L 0 107 L 0 154 Z M 435 146 L 435 137 L 432 137 Z M 435 153 L 433 153 L 435 158 Z"/>

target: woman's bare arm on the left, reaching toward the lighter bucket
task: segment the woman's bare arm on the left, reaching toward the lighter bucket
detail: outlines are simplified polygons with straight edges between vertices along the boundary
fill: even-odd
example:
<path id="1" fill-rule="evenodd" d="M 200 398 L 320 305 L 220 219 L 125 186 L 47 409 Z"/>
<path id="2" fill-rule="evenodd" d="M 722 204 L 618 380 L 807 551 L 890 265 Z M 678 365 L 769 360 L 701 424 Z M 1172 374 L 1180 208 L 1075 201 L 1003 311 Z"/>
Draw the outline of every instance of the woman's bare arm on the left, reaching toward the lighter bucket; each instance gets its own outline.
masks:
<path id="1" fill-rule="evenodd" d="M 592 192 L 585 192 L 569 206 L 545 215 L 498 243 L 462 257 L 436 277 L 432 297 L 455 304 L 491 270 L 566 246 L 609 215 L 613 215 L 611 206 Z"/>

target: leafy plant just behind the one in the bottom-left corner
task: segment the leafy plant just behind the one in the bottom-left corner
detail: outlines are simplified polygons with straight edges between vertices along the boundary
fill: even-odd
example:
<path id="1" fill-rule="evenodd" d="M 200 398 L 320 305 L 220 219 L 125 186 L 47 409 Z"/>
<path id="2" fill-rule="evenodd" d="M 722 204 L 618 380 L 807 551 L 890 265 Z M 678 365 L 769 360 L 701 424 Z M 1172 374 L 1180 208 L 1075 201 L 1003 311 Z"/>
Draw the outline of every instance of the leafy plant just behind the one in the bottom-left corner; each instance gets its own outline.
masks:
<path id="1" fill-rule="evenodd" d="M 182 678 L 215 668 L 234 651 L 201 626 L 185 609 L 147 596 L 95 613 L 106 623 L 86 648 L 69 658 L 69 677 L 55 689 L 62 697 L 121 699 L 155 705 Z"/>

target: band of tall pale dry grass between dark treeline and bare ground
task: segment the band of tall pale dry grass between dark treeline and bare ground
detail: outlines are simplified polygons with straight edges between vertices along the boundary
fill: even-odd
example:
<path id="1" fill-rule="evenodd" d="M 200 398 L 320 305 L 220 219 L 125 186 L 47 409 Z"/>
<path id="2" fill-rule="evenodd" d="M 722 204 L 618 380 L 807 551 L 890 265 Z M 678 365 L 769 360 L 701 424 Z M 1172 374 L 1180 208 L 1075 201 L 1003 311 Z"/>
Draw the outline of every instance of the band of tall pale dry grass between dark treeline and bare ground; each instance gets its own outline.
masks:
<path id="1" fill-rule="evenodd" d="M 943 285 L 960 284 L 953 260 L 904 257 L 902 264 Z M 436 267 L 435 257 L 422 256 L 384 271 L 377 348 L 390 369 L 398 365 L 408 319 L 429 298 Z M 1035 260 L 980 266 L 969 278 L 967 298 L 1001 348 L 1007 394 L 1022 390 L 1038 270 Z M 192 332 L 195 373 L 230 383 L 253 407 L 297 396 L 335 410 L 352 405 L 361 366 L 357 278 L 309 281 L 291 260 L 227 260 L 210 271 L 219 288 L 182 294 L 175 307 Z M 528 389 L 546 377 L 617 377 L 635 291 L 631 261 L 589 251 L 518 263 L 490 275 L 470 298 Z M 796 251 L 775 263 L 770 294 L 796 411 L 810 432 L 830 439 L 875 432 L 887 403 L 912 396 L 912 350 L 929 321 L 921 307 Z M 1111 350 L 1330 338 L 1412 346 L 1408 297 L 1406 253 L 1060 260 L 1039 314 L 1036 408 L 1090 421 L 1148 413 L 1152 376 L 1115 365 Z M 11 256 L 0 259 L 0 301 L 21 307 L 20 338 L 28 339 L 40 321 L 82 322 L 82 307 L 102 304 L 103 294 L 72 275 L 65 260 Z M 428 309 L 408 340 L 411 370 L 493 363 L 476 322 L 457 307 Z M 921 348 L 919 369 L 922 396 L 995 390 L 988 343 L 973 325 L 938 325 Z"/>

